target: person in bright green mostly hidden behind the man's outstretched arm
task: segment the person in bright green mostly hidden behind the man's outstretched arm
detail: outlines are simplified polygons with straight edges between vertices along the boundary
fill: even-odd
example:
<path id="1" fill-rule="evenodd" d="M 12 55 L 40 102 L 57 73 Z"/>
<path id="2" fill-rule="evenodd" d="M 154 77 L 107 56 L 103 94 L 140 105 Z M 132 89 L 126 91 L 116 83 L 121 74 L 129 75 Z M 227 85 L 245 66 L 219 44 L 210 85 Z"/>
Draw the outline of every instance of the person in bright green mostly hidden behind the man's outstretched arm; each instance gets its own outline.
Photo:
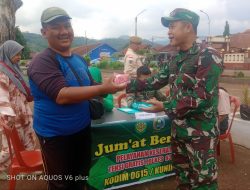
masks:
<path id="1" fill-rule="evenodd" d="M 90 64 L 88 64 L 90 65 Z M 102 81 L 102 73 L 98 67 L 89 66 L 89 72 L 93 77 L 94 81 L 101 84 Z M 114 108 L 114 97 L 112 94 L 107 94 L 106 97 L 103 98 L 103 106 L 106 112 L 111 112 Z"/>

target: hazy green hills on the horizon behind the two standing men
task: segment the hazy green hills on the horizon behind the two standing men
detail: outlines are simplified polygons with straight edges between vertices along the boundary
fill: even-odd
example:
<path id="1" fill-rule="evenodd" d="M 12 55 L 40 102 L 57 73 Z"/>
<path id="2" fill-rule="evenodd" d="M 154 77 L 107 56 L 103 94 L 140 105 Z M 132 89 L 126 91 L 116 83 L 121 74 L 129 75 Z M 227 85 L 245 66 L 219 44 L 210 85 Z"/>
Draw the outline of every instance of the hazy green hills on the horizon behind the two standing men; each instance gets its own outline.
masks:
<path id="1" fill-rule="evenodd" d="M 47 45 L 47 41 L 42 37 L 41 34 L 22 32 L 24 38 L 26 39 L 27 45 L 31 52 L 40 52 L 44 50 Z M 152 45 L 152 41 L 143 39 L 143 43 Z M 101 40 L 89 39 L 84 37 L 75 37 L 72 43 L 72 47 L 82 46 L 86 44 L 96 44 L 96 43 L 106 43 L 111 47 L 115 48 L 117 51 L 121 51 L 129 45 L 129 36 L 123 35 L 118 38 L 104 38 Z M 164 40 L 154 41 L 155 45 L 167 45 L 168 42 Z"/>

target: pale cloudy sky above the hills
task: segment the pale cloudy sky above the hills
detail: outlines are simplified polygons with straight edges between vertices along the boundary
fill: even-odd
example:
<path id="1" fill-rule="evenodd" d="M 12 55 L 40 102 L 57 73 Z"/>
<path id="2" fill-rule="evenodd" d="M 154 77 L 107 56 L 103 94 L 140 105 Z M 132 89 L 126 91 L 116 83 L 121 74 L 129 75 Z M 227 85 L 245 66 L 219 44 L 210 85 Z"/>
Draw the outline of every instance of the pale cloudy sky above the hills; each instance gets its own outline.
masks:
<path id="1" fill-rule="evenodd" d="M 48 7 L 65 9 L 72 17 L 75 36 L 93 39 L 137 35 L 152 40 L 168 38 L 160 19 L 175 8 L 186 8 L 200 16 L 199 36 L 222 35 L 225 22 L 230 33 L 250 29 L 249 0 L 22 0 L 16 26 L 22 32 L 40 34 L 40 17 Z M 202 13 L 203 10 L 205 13 Z M 141 14 L 140 14 L 141 13 Z M 139 14 L 139 15 L 138 15 Z M 210 20 L 210 24 L 209 21 Z"/>

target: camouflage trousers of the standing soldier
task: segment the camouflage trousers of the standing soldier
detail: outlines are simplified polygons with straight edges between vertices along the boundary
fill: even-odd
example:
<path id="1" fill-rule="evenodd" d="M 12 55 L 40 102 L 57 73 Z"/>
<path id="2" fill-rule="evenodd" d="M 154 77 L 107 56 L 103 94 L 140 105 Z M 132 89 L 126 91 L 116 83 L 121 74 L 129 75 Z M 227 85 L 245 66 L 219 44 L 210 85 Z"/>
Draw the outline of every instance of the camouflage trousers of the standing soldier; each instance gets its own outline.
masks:
<path id="1" fill-rule="evenodd" d="M 177 189 L 214 190 L 217 184 L 218 138 L 172 137 L 173 166 Z"/>

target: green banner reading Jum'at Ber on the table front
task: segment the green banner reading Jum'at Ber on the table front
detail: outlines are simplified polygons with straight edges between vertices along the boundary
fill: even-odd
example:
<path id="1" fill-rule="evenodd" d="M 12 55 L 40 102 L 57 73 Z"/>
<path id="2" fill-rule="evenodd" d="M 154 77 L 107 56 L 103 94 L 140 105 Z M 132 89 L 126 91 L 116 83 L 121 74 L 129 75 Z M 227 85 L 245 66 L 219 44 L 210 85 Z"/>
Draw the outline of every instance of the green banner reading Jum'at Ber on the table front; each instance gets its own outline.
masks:
<path id="1" fill-rule="evenodd" d="M 92 128 L 93 189 L 115 189 L 173 175 L 170 122 L 154 119 L 104 123 Z"/>

